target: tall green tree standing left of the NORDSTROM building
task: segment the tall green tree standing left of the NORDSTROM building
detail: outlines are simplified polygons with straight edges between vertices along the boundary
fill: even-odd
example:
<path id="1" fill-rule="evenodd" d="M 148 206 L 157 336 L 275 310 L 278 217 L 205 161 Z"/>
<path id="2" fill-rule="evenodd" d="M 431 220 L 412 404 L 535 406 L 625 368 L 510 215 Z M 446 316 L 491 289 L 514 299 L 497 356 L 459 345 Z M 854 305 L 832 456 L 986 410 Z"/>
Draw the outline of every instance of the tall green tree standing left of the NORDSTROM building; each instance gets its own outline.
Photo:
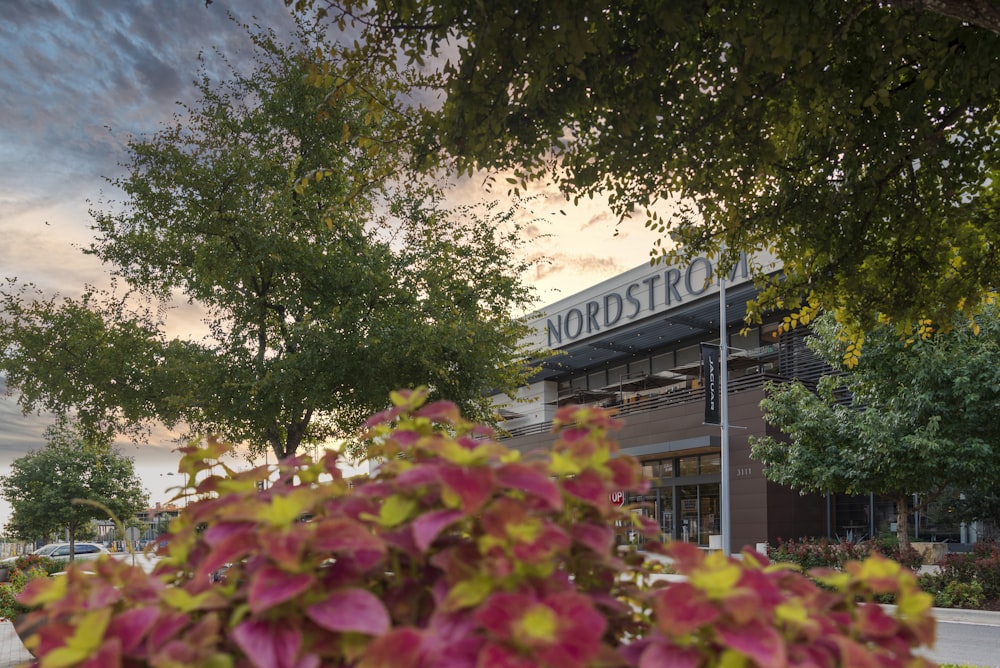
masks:
<path id="1" fill-rule="evenodd" d="M 204 72 L 195 105 L 128 144 L 125 202 L 93 212 L 87 252 L 128 290 L 3 293 L 0 368 L 22 407 L 104 434 L 185 423 L 281 459 L 401 387 L 494 419 L 491 390 L 527 372 L 518 211 L 446 210 L 408 179 L 360 94 L 306 83 L 331 71 L 316 31 L 252 37 L 252 71 Z M 137 296 L 183 296 L 209 336 L 168 337 Z"/>

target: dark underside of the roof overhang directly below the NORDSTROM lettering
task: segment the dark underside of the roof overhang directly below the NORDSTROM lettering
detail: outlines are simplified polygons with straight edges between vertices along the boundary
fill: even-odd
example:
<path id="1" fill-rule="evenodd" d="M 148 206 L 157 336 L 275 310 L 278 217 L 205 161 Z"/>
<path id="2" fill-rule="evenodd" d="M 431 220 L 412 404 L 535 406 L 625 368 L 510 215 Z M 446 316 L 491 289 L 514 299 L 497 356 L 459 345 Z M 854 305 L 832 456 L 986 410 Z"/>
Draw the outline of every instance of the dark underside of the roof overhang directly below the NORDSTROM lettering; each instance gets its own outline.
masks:
<path id="1" fill-rule="evenodd" d="M 756 294 L 753 283 L 727 290 L 727 326 L 743 322 L 747 300 Z M 666 313 L 610 330 L 604 335 L 563 346 L 558 354 L 542 362 L 541 370 L 532 380 L 558 379 L 579 371 L 625 362 L 683 341 L 703 341 L 718 336 L 719 299 L 717 294 L 712 294 Z"/>

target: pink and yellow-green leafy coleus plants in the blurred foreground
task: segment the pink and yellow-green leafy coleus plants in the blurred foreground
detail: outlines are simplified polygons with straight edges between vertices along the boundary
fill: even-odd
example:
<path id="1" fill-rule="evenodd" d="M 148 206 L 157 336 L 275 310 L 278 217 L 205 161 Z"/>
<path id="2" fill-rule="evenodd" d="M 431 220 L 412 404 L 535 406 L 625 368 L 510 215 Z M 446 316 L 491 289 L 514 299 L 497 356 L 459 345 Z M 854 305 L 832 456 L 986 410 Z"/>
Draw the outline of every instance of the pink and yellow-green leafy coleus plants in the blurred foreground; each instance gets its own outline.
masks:
<path id="1" fill-rule="evenodd" d="M 812 571 L 820 587 L 675 543 L 654 547 L 685 579 L 645 585 L 612 527 L 657 527 L 610 502 L 645 483 L 609 413 L 564 407 L 552 451 L 522 457 L 423 400 L 395 393 L 369 421 L 382 465 L 353 485 L 332 453 L 232 472 L 222 445 L 187 449 L 197 500 L 154 572 L 102 558 L 33 584 L 48 624 L 31 646 L 102 667 L 931 665 L 912 653 L 933 639 L 931 597 L 879 556 Z M 895 612 L 864 603 L 887 594 Z"/>

